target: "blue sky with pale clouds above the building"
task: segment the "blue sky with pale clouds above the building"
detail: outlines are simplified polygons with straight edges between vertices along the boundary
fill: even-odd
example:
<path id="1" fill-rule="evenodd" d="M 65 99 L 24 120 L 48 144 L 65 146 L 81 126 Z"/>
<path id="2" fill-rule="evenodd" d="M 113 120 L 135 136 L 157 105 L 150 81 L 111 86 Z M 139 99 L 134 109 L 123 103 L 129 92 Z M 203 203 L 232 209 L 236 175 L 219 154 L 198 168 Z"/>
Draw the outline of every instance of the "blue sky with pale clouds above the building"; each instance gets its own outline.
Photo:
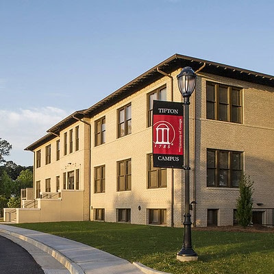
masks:
<path id="1" fill-rule="evenodd" d="M 49 127 L 175 53 L 274 75 L 274 1 L 0 0 L 0 137 Z"/>

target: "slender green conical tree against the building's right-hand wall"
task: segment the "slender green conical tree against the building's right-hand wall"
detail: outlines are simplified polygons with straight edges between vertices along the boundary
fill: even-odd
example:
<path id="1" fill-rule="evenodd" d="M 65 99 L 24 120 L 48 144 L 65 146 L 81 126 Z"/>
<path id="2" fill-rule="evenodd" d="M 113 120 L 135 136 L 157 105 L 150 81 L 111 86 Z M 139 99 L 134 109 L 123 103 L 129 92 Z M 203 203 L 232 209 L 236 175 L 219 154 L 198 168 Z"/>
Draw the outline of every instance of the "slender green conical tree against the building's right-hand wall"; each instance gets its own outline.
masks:
<path id="1" fill-rule="evenodd" d="M 237 199 L 236 206 L 236 218 L 242 227 L 247 227 L 247 225 L 250 225 L 252 220 L 253 184 L 254 182 L 251 181 L 250 176 L 243 173 L 239 183 L 240 195 Z"/>

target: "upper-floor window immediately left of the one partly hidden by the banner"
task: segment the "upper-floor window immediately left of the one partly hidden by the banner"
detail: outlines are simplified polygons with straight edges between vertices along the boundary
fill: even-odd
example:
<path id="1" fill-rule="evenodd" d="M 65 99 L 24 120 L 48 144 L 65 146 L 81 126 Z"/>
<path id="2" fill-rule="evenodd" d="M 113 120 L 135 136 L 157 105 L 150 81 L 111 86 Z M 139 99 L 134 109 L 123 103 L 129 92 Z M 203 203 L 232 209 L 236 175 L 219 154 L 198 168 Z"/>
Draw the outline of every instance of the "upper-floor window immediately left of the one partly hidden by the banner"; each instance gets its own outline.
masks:
<path id="1" fill-rule="evenodd" d="M 118 137 L 132 133 L 132 105 L 126 105 L 118 112 Z"/>

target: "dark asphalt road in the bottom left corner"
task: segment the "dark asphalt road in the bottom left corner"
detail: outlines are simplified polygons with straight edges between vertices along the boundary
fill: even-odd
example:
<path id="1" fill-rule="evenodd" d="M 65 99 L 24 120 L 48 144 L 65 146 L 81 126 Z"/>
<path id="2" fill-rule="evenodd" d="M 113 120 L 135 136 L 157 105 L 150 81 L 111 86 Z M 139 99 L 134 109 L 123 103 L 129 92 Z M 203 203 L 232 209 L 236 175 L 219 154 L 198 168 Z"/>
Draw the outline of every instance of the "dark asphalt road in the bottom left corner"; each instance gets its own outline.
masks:
<path id="1" fill-rule="evenodd" d="M 44 274 L 44 271 L 23 247 L 0 236 L 0 273 Z"/>

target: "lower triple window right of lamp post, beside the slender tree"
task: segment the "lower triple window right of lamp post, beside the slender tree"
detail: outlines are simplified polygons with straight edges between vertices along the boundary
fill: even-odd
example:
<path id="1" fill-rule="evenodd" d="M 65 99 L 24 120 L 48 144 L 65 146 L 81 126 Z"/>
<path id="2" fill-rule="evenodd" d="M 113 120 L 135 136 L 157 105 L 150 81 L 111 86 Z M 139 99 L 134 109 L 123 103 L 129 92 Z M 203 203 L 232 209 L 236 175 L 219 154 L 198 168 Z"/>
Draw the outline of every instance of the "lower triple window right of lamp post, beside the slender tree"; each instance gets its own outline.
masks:
<path id="1" fill-rule="evenodd" d="M 207 186 L 238 188 L 241 175 L 242 152 L 207 150 Z"/>

